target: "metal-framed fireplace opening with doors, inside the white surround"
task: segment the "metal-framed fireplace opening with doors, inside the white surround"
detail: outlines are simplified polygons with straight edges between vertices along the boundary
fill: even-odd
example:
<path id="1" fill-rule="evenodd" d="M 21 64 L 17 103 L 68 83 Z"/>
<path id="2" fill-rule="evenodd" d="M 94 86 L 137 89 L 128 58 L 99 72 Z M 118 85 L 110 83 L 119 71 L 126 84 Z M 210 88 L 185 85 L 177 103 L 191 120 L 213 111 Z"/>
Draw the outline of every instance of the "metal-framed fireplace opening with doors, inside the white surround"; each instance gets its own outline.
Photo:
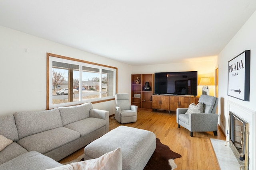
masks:
<path id="1" fill-rule="evenodd" d="M 240 164 L 240 170 L 248 170 L 249 123 L 232 111 L 229 113 L 229 122 L 230 147 Z"/>

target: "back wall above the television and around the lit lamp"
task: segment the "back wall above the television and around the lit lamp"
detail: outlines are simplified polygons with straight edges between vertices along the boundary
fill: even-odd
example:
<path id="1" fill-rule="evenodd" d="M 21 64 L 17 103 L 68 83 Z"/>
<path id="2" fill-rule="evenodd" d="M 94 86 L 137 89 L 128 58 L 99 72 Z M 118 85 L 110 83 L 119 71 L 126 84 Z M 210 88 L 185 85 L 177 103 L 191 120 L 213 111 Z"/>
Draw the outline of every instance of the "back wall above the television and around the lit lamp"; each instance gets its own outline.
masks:
<path id="1" fill-rule="evenodd" d="M 217 64 L 217 56 L 200 57 L 180 61 L 180 63 L 155 64 L 147 66 L 134 66 L 132 74 L 152 74 L 155 72 L 177 72 L 177 71 L 198 71 L 198 84 L 201 77 L 210 77 L 212 86 L 210 95 L 215 96 L 215 69 Z M 202 87 L 198 86 L 198 96 L 202 94 Z"/>

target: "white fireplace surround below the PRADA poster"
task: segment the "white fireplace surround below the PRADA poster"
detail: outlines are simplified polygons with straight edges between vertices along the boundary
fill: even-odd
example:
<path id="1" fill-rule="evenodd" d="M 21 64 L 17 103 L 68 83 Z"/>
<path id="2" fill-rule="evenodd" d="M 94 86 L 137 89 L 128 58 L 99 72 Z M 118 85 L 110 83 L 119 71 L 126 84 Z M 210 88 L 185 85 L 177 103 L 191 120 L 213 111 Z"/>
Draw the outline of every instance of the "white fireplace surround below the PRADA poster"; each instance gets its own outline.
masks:
<path id="1" fill-rule="evenodd" d="M 244 106 L 241 106 L 235 102 L 232 102 L 228 100 L 228 111 L 227 113 L 230 113 L 232 111 L 235 115 L 243 119 L 244 121 L 247 121 L 249 123 L 249 170 L 255 170 L 255 159 L 256 159 L 256 152 L 255 152 L 255 145 L 256 145 L 256 112 L 254 110 L 248 109 Z M 228 117 L 228 116 L 226 116 Z M 230 129 L 228 125 L 226 124 L 226 129 L 230 132 Z M 229 135 L 226 138 L 226 141 L 229 141 Z"/>

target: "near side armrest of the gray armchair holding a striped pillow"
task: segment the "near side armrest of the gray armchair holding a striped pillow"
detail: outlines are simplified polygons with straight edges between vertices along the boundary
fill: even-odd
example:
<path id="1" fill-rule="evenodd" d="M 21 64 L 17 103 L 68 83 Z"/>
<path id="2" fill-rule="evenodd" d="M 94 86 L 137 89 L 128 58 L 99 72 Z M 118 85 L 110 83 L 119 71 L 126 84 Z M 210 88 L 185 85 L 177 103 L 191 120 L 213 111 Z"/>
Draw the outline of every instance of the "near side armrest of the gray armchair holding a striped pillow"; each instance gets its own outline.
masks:
<path id="1" fill-rule="evenodd" d="M 218 114 L 215 113 L 192 113 L 189 114 L 189 127 L 191 131 L 217 131 Z"/>

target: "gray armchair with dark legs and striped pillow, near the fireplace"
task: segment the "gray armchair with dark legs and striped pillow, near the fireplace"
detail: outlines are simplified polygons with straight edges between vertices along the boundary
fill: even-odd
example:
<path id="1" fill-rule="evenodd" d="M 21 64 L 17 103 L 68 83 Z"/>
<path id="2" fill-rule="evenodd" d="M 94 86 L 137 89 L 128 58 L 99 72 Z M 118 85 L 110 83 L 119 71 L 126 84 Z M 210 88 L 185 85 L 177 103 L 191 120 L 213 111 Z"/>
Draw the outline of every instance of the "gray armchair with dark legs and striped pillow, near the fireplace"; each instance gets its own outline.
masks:
<path id="1" fill-rule="evenodd" d="M 178 128 L 180 125 L 190 131 L 190 136 L 193 132 L 207 132 L 213 131 L 217 135 L 218 130 L 218 117 L 216 108 L 218 105 L 218 98 L 214 96 L 201 95 L 198 103 L 204 106 L 204 113 L 191 113 L 185 114 L 188 108 L 178 108 L 176 111 L 176 121 Z"/>

